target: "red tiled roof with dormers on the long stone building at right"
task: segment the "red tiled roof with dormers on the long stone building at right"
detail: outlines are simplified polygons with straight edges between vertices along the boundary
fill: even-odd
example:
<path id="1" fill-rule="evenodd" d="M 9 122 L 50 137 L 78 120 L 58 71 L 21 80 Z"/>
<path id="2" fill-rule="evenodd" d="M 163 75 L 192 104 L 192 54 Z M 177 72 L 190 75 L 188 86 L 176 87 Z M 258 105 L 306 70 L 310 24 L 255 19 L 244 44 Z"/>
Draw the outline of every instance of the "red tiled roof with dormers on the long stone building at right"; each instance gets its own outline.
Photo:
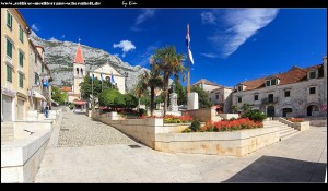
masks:
<path id="1" fill-rule="evenodd" d="M 293 84 L 293 83 L 297 83 L 297 82 L 307 80 L 307 72 L 313 69 L 317 69 L 319 72 L 319 77 L 321 77 L 320 70 L 323 70 L 323 64 L 313 65 L 313 67 L 308 67 L 305 69 L 302 69 L 298 67 L 292 67 L 288 72 L 279 73 L 279 74 L 274 74 L 274 75 L 270 75 L 270 76 L 278 77 L 280 80 L 280 83 L 278 85 Z M 266 83 L 267 77 L 268 76 L 265 76 L 261 79 L 256 79 L 253 81 L 245 81 L 239 84 L 243 84 L 246 86 L 244 91 L 253 91 L 253 89 L 257 89 L 257 88 L 262 88 L 266 86 L 265 83 Z"/>

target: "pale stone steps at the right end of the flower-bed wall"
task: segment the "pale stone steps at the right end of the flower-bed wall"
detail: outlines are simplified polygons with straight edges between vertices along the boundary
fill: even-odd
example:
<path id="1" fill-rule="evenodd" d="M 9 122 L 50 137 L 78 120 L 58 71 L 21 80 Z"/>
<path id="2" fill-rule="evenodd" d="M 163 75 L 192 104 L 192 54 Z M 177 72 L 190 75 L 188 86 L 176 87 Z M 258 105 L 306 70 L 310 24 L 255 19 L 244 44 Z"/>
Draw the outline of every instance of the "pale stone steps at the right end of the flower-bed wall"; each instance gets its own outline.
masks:
<path id="1" fill-rule="evenodd" d="M 265 128 L 269 128 L 269 127 L 279 127 L 280 131 L 279 131 L 279 140 L 285 140 L 288 138 L 291 138 L 297 133 L 300 133 L 298 130 L 295 130 L 294 128 L 291 128 L 282 122 L 279 122 L 278 120 L 268 120 L 268 121 L 263 121 L 263 126 Z"/>

